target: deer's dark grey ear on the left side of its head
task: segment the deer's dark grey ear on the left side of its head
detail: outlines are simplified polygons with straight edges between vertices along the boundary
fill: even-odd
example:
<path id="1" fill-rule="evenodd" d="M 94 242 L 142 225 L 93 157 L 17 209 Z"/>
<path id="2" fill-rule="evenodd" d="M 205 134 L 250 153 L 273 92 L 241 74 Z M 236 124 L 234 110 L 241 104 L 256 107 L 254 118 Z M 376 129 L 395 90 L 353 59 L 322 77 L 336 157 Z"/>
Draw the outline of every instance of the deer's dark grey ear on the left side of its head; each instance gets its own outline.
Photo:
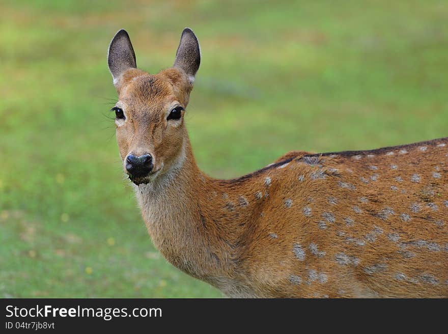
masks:
<path id="1" fill-rule="evenodd" d="M 119 30 L 110 42 L 107 63 L 114 78 L 114 85 L 117 85 L 118 78 L 124 71 L 137 67 L 131 40 L 124 29 Z"/>

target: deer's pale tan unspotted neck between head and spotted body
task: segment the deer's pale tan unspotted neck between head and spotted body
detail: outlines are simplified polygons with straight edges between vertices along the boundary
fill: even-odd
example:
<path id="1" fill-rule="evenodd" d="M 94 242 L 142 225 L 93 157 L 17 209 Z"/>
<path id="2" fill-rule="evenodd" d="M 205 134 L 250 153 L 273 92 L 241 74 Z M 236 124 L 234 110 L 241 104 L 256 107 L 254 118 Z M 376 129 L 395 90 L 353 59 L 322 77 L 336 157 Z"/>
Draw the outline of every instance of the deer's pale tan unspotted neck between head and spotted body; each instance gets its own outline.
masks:
<path id="1" fill-rule="evenodd" d="M 187 137 L 169 171 L 134 186 L 154 245 L 173 265 L 212 284 L 233 270 L 232 236 L 207 203 L 217 182 L 199 170 Z"/>

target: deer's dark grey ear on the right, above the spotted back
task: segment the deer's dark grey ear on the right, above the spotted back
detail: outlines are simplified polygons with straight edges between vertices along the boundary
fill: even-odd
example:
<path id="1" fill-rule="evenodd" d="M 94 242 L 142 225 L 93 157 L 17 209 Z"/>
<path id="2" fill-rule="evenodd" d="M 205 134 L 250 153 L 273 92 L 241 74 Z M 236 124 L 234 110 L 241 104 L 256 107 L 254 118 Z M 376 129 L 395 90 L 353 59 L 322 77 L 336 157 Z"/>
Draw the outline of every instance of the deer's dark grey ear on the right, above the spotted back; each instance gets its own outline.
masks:
<path id="1" fill-rule="evenodd" d="M 180 38 L 173 67 L 182 69 L 192 83 L 201 64 L 201 49 L 193 31 L 185 28 Z"/>

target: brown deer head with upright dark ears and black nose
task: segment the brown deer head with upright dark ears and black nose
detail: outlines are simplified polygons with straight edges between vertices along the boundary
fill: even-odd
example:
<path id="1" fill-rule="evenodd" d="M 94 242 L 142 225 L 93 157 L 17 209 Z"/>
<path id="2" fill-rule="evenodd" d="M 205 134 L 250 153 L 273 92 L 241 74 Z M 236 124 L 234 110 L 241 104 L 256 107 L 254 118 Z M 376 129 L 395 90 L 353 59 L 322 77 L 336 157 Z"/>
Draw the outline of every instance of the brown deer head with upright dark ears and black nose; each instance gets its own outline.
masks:
<path id="1" fill-rule="evenodd" d="M 108 65 L 118 92 L 117 143 L 124 172 L 135 184 L 175 170 L 185 158 L 184 115 L 201 61 L 198 39 L 185 28 L 172 68 L 137 69 L 129 35 L 120 30 L 109 45 Z"/>

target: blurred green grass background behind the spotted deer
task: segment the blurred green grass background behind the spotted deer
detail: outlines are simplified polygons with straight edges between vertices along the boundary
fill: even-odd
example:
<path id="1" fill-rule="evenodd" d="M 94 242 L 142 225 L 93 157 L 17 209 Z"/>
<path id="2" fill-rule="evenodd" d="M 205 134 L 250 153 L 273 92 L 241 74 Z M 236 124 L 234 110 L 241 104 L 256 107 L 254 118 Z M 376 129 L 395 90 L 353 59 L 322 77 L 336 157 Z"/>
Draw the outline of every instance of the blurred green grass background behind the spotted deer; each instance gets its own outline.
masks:
<path id="1" fill-rule="evenodd" d="M 446 136 L 445 1 L 3 1 L 0 297 L 219 297 L 151 244 L 108 109 L 108 43 L 202 64 L 187 126 L 200 167 L 235 177 L 289 150 Z"/>

